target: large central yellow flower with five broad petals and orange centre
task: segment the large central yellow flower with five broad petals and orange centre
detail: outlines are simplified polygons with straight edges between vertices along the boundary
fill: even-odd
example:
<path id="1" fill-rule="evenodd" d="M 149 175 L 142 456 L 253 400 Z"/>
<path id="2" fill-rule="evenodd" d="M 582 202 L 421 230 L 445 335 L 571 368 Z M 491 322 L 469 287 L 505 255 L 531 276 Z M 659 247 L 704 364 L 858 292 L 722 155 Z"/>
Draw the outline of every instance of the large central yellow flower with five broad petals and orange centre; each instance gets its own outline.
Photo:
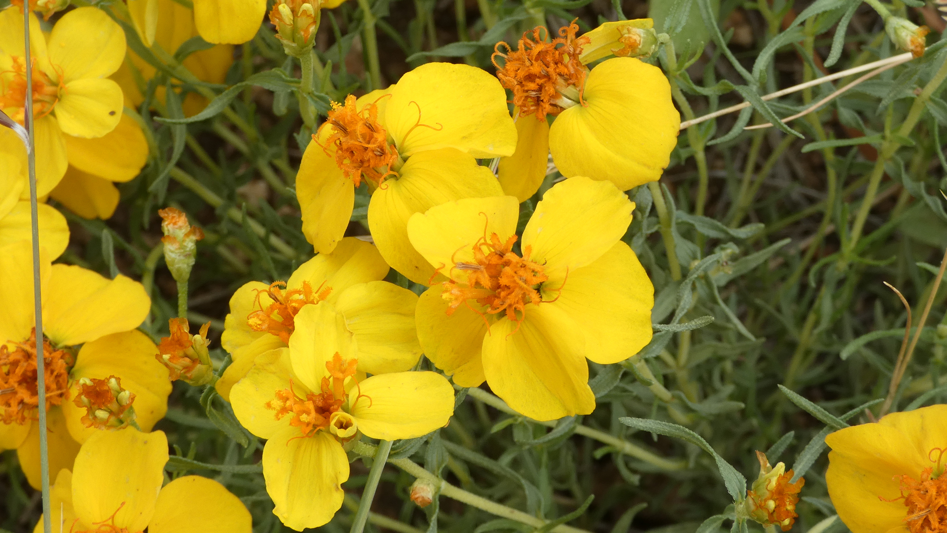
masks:
<path id="1" fill-rule="evenodd" d="M 654 288 L 619 239 L 634 204 L 577 176 L 545 193 L 513 250 L 512 196 L 456 200 L 415 214 L 411 244 L 447 282 L 418 303 L 424 354 L 462 387 L 484 380 L 536 420 L 589 414 L 589 358 L 634 356 L 652 337 Z"/>

